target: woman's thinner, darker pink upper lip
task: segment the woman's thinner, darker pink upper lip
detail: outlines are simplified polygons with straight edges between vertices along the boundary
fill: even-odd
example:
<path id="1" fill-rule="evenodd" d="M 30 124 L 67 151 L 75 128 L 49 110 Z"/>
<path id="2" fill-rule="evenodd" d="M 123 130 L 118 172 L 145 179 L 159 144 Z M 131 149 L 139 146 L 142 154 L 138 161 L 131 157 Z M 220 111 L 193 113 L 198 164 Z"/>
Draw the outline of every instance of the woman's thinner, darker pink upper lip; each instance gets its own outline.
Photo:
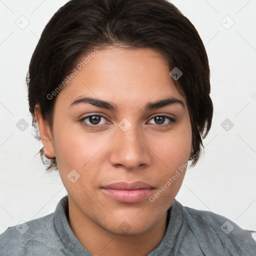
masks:
<path id="1" fill-rule="evenodd" d="M 136 190 L 136 189 L 152 189 L 154 187 L 142 181 L 135 181 L 135 182 L 119 181 L 119 182 L 113 182 L 108 185 L 104 185 L 102 186 L 102 188 Z"/>

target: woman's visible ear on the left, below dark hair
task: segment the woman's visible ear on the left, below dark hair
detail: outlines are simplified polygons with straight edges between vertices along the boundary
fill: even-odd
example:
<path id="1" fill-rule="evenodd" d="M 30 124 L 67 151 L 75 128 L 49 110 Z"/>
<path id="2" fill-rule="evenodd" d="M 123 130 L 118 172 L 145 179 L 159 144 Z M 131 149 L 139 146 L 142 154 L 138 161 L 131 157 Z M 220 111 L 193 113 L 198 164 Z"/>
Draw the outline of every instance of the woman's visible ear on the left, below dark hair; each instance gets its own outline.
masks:
<path id="1" fill-rule="evenodd" d="M 44 154 L 47 158 L 53 158 L 55 157 L 55 152 L 53 148 L 52 134 L 48 123 L 42 117 L 39 104 L 35 105 L 34 114 L 38 125 L 41 141 L 44 146 Z"/>

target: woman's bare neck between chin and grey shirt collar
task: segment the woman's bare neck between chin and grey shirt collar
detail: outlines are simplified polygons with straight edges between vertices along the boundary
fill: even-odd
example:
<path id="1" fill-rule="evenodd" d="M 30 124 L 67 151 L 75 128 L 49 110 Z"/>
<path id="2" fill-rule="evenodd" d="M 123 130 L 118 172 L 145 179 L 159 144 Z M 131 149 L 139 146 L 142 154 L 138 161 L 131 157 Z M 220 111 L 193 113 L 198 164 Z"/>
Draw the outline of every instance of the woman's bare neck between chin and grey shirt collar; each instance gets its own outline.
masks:
<path id="1" fill-rule="evenodd" d="M 146 256 L 161 242 L 166 231 L 167 212 L 144 233 L 110 233 L 91 221 L 74 203 L 68 203 L 69 225 L 79 242 L 92 255 Z"/>

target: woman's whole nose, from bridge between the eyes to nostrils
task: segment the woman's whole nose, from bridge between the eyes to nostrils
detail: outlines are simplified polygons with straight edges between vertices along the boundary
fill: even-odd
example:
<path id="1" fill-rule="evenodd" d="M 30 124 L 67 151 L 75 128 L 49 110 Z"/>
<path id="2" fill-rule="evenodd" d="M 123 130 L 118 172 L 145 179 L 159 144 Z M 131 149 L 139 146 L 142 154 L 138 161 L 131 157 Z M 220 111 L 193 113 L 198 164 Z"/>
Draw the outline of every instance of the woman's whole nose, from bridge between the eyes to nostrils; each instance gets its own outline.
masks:
<path id="1" fill-rule="evenodd" d="M 132 169 L 140 164 L 149 164 L 150 155 L 141 134 L 139 127 L 127 119 L 118 123 L 115 148 L 110 157 L 113 165 L 121 164 L 127 169 Z"/>

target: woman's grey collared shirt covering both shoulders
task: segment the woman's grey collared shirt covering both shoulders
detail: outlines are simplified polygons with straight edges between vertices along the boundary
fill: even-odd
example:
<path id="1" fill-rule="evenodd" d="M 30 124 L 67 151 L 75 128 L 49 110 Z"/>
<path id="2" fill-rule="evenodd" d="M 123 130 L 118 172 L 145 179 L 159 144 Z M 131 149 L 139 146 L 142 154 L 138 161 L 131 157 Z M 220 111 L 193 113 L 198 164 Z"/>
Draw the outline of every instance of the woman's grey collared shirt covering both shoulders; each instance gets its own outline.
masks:
<path id="1" fill-rule="evenodd" d="M 0 235 L 0 255 L 91 256 L 71 230 L 67 217 L 66 195 L 55 212 L 8 227 Z M 256 255 L 256 241 L 252 238 L 255 231 L 242 229 L 211 211 L 192 209 L 174 199 L 167 224 L 163 239 L 148 256 Z"/>

